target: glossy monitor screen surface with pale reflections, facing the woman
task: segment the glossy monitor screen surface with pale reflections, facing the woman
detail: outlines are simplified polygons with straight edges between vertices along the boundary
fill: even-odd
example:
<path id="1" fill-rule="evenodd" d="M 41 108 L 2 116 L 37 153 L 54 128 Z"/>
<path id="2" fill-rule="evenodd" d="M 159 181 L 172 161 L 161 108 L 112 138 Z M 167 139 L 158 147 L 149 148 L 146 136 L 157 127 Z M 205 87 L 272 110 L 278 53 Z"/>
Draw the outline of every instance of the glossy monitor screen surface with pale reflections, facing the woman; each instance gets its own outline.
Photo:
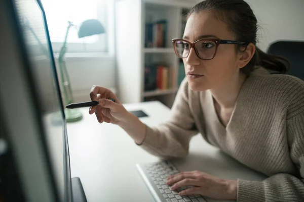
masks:
<path id="1" fill-rule="evenodd" d="M 40 1 L 15 0 L 23 31 L 31 75 L 34 81 L 42 120 L 47 153 L 52 165 L 60 201 L 68 201 L 70 171 L 68 150 L 65 147 L 66 124 L 56 76 L 56 66 L 49 41 L 45 13 Z"/>

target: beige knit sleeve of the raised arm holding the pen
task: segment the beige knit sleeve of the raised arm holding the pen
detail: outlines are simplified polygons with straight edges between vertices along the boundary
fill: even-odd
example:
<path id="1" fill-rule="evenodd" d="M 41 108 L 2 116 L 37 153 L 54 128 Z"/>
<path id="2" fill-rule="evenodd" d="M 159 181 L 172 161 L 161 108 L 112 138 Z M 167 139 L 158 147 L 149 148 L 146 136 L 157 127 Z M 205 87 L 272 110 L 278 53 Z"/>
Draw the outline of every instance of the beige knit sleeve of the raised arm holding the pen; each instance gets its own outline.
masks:
<path id="1" fill-rule="evenodd" d="M 141 147 L 148 153 L 161 157 L 185 157 L 189 140 L 198 131 L 188 104 L 188 84 L 186 79 L 177 91 L 169 121 L 155 127 L 146 126 L 146 134 Z"/>

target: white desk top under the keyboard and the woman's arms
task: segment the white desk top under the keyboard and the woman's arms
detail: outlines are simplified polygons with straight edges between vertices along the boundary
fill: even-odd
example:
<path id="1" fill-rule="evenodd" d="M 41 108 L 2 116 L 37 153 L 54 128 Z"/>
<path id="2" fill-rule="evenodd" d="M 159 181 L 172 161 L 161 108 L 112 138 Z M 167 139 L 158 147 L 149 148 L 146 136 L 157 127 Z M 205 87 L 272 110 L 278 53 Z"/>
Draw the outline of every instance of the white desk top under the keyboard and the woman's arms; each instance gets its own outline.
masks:
<path id="1" fill-rule="evenodd" d="M 125 105 L 127 110 L 143 110 L 140 118 L 147 125 L 157 125 L 169 118 L 170 109 L 160 102 Z M 71 176 L 80 177 L 88 202 L 153 202 L 136 170 L 137 163 L 158 158 L 137 146 L 120 127 L 97 122 L 95 115 L 82 109 L 82 121 L 67 124 Z M 190 142 L 189 155 L 175 161 L 180 171 L 200 170 L 224 179 L 262 180 L 265 176 L 248 169 L 204 141 L 200 134 Z M 216 201 L 207 198 L 208 201 Z"/>

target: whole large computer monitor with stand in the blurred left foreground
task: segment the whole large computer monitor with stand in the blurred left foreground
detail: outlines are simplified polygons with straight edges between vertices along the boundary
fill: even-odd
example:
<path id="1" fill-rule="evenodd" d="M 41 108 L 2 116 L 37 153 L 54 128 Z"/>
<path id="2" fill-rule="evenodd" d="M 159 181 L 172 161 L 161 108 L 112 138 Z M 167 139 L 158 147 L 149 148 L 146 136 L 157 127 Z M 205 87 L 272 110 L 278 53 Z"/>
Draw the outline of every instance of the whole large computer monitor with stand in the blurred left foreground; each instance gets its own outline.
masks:
<path id="1" fill-rule="evenodd" d="M 86 201 L 40 0 L 0 1 L 0 201 Z"/>

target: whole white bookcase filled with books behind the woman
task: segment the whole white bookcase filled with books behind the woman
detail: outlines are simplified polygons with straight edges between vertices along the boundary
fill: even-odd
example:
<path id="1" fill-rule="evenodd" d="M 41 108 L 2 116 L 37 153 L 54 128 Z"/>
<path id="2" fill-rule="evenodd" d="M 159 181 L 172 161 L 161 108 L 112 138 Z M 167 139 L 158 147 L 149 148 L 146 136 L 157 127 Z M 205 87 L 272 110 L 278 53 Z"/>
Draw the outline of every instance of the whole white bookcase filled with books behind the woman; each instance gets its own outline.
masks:
<path id="1" fill-rule="evenodd" d="M 117 94 L 122 103 L 160 100 L 172 107 L 181 79 L 182 60 L 172 38 L 181 38 L 182 14 L 191 0 L 117 0 Z"/>

